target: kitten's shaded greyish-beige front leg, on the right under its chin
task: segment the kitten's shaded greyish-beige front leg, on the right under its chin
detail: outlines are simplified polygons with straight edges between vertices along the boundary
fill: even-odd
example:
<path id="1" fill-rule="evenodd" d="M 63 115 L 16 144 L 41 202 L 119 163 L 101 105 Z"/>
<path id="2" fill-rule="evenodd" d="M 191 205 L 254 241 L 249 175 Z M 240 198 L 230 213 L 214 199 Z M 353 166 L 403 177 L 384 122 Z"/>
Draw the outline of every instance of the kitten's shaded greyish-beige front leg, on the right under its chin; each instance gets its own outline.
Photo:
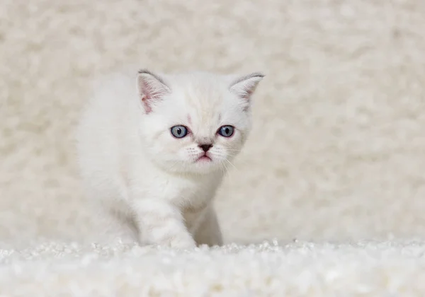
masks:
<path id="1" fill-rule="evenodd" d="M 195 231 L 195 240 L 198 245 L 222 245 L 222 233 L 218 224 L 217 215 L 212 206 L 205 209 L 205 213 L 200 217 L 199 226 Z"/>

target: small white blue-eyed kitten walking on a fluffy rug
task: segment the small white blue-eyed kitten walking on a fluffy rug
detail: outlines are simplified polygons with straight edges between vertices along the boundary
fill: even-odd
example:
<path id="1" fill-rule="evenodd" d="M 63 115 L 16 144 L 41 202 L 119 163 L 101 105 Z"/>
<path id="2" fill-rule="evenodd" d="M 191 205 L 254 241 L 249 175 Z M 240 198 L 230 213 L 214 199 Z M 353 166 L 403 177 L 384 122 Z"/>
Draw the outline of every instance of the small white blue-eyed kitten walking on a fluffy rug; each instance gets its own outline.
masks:
<path id="1" fill-rule="evenodd" d="M 141 70 L 101 83 L 77 129 L 90 198 L 131 218 L 141 244 L 222 245 L 212 199 L 249 134 L 262 78 Z"/>

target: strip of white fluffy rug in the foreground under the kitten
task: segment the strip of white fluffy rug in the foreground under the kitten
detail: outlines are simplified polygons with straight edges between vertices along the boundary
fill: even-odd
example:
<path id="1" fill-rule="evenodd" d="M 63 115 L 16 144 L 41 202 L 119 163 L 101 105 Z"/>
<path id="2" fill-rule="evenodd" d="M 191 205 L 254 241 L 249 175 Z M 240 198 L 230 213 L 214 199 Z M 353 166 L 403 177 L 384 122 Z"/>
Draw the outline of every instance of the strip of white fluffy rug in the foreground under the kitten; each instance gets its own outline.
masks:
<path id="1" fill-rule="evenodd" d="M 1 250 L 1 296 L 423 296 L 425 243 Z"/>

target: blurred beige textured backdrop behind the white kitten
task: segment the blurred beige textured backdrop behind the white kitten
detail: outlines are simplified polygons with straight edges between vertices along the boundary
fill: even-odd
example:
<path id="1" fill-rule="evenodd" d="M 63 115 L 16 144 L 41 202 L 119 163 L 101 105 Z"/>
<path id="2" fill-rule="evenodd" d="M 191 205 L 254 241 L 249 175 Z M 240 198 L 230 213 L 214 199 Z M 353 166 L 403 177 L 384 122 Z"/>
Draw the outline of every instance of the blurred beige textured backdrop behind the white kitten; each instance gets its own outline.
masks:
<path id="1" fill-rule="evenodd" d="M 94 240 L 74 127 L 93 79 L 263 71 L 227 242 L 425 236 L 425 1 L 1 0 L 0 238 Z"/>

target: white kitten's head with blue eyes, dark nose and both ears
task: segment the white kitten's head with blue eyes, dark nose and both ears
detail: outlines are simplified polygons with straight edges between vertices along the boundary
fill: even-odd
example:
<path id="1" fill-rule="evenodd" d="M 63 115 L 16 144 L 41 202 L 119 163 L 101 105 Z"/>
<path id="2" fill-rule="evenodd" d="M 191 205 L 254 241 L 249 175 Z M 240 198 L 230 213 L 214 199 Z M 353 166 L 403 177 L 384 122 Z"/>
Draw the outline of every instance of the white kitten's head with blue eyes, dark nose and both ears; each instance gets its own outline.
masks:
<path id="1" fill-rule="evenodd" d="M 263 74 L 139 71 L 140 133 L 146 153 L 179 173 L 225 171 L 251 129 L 251 95 Z"/>

